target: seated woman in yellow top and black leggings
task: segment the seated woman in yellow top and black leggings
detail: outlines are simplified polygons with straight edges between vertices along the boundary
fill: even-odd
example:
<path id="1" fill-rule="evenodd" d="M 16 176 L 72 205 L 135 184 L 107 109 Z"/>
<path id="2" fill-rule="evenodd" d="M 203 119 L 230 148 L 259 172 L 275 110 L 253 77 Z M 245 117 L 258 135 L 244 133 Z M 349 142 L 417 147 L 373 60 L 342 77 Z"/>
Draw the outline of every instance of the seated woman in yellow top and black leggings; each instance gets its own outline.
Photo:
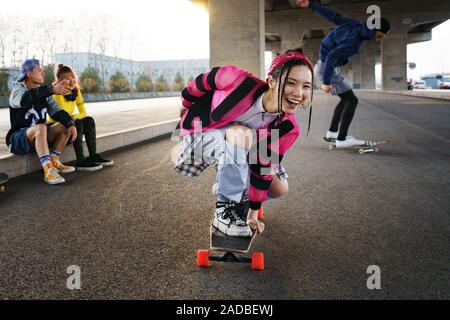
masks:
<path id="1" fill-rule="evenodd" d="M 73 148 L 77 157 L 77 170 L 96 171 L 102 169 L 103 166 L 113 165 L 113 161 L 103 159 L 97 154 L 95 121 L 92 117 L 88 116 L 86 112 L 75 71 L 69 66 L 60 64 L 56 69 L 55 78 L 57 83 L 63 82 L 70 89 L 68 94 L 55 94 L 53 95 L 53 98 L 64 111 L 75 119 L 78 135 L 77 139 L 73 142 Z M 78 113 L 76 113 L 76 110 L 78 110 Z M 54 124 L 56 120 L 48 116 L 47 122 Z M 84 156 L 83 135 L 86 138 L 86 145 L 89 150 L 88 158 Z"/>

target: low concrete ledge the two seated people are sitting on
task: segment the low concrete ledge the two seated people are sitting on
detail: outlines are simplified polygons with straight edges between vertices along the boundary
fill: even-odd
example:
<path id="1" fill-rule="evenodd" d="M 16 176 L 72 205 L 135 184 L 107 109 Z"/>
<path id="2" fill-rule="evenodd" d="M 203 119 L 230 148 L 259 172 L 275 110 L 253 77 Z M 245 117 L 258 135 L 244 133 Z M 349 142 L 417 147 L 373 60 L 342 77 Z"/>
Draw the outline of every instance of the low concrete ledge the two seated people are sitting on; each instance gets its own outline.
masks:
<path id="1" fill-rule="evenodd" d="M 99 153 L 110 151 L 169 134 L 175 129 L 178 121 L 177 119 L 168 120 L 148 126 L 99 135 L 97 136 L 97 151 Z M 86 145 L 84 147 L 86 148 Z M 64 162 L 75 160 L 72 146 L 68 146 L 64 150 L 62 160 Z M 26 156 L 17 156 L 11 153 L 0 155 L 0 171 L 8 173 L 10 177 L 28 174 L 41 170 L 41 168 L 35 153 Z"/>

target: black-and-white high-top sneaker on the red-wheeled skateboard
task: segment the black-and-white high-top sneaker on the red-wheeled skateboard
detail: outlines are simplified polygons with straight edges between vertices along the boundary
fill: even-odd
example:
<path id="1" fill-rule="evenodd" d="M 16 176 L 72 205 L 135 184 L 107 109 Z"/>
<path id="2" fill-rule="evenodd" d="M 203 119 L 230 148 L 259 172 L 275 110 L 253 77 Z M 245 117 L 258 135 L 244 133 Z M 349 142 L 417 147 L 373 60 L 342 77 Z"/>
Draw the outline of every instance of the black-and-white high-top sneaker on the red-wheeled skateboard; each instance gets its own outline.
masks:
<path id="1" fill-rule="evenodd" d="M 234 202 L 217 202 L 213 226 L 232 237 L 251 237 L 252 230 L 239 216 L 239 205 Z"/>

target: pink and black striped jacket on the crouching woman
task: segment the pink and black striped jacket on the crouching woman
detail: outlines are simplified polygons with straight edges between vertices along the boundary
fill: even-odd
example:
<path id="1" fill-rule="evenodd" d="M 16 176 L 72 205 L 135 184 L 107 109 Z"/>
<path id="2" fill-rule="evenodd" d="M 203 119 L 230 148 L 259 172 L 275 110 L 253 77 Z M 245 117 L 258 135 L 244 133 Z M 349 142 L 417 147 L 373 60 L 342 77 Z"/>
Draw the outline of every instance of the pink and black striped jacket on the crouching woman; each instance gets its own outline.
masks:
<path id="1" fill-rule="evenodd" d="M 194 124 L 197 121 L 202 123 L 202 132 L 228 125 L 245 113 L 267 89 L 265 81 L 235 66 L 216 67 L 198 75 L 182 91 L 181 100 L 188 111 L 178 125 L 179 135 L 183 137 L 194 133 Z M 257 133 L 257 145 L 267 145 L 268 150 L 259 152 L 257 163 L 250 165 L 248 196 L 250 207 L 255 210 L 267 200 L 267 190 L 272 182 L 268 169 L 281 162 L 300 134 L 300 126 L 294 114 L 285 113 L 281 123 L 277 120 Z M 279 137 L 275 141 L 272 141 L 272 129 L 279 130 Z M 263 140 L 266 140 L 265 143 Z M 274 159 L 274 156 L 279 162 L 270 160 Z"/>

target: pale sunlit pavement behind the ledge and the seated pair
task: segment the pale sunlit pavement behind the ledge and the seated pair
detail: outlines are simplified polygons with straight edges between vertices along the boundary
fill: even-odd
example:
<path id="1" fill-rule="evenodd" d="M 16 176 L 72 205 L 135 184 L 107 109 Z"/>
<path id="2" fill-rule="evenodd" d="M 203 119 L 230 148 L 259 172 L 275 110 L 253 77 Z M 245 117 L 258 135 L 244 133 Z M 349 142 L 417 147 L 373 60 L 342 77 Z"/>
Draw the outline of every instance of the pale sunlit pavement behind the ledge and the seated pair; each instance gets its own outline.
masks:
<path id="1" fill-rule="evenodd" d="M 176 119 L 179 97 L 152 98 L 86 103 L 89 115 L 95 118 L 97 134 Z M 0 109 L 0 155 L 8 153 L 5 136 L 10 128 L 9 109 Z"/>

